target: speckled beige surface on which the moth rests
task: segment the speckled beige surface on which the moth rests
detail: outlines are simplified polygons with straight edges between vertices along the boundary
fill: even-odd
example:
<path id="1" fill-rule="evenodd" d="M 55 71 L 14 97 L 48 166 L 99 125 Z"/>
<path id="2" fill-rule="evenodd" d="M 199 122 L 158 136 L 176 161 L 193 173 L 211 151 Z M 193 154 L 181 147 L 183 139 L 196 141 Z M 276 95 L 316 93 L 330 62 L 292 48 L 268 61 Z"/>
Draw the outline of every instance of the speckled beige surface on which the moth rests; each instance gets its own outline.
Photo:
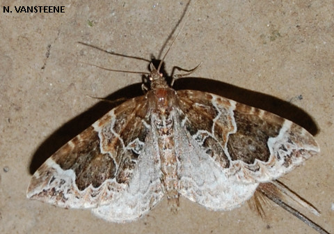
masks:
<path id="1" fill-rule="evenodd" d="M 1 1 L 22 6 L 28 1 Z M 158 56 L 186 1 L 29 1 L 65 6 L 65 13 L 0 15 L 0 233 L 315 233 L 276 205 L 261 219 L 248 205 L 211 212 L 181 199 L 176 215 L 166 200 L 148 216 L 110 224 L 88 210 L 64 210 L 26 199 L 42 162 L 112 104 L 141 95 L 141 76 L 106 68 L 147 71 L 148 63 L 79 45 L 150 59 Z M 282 180 L 319 208 L 308 217 L 334 233 L 333 1 L 193 1 L 166 58 L 193 68 L 175 88 L 210 91 L 299 123 L 321 153 Z M 180 29 L 180 28 L 179 28 Z M 173 36 L 174 38 L 174 36 Z M 166 48 L 165 48 L 166 49 Z M 136 84 L 136 85 L 133 85 Z M 98 104 L 97 104 L 98 103 Z"/>

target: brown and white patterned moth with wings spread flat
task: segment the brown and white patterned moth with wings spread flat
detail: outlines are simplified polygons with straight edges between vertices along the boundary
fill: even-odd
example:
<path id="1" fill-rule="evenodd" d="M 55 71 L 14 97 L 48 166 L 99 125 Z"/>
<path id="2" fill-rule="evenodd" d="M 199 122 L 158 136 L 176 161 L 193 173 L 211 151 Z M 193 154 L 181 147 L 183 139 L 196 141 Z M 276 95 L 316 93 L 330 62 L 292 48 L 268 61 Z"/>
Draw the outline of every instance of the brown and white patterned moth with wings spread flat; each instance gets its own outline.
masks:
<path id="1" fill-rule="evenodd" d="M 113 222 L 134 221 L 165 196 L 172 210 L 180 196 L 232 210 L 255 192 L 272 200 L 288 193 L 276 180 L 319 153 L 312 135 L 290 120 L 212 93 L 175 91 L 161 64 L 151 63 L 145 95 L 111 109 L 49 157 L 27 197 Z"/>

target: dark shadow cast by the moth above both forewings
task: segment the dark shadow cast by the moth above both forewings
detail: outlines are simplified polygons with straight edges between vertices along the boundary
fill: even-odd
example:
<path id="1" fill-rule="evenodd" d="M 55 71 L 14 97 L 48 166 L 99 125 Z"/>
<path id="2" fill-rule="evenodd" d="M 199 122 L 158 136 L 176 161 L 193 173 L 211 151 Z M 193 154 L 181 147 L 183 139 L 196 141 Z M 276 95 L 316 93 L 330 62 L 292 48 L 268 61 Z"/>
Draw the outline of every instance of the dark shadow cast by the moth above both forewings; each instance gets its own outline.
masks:
<path id="1" fill-rule="evenodd" d="M 316 123 L 305 111 L 290 102 L 280 100 L 271 95 L 249 91 L 245 88 L 232 86 L 231 84 L 226 84 L 221 81 L 214 81 L 212 79 L 200 77 L 177 79 L 173 88 L 175 88 L 175 90 L 191 89 L 214 93 L 224 98 L 229 98 L 237 102 L 248 104 L 252 107 L 264 109 L 265 111 L 270 111 L 273 114 L 292 120 L 294 123 L 301 125 L 301 127 L 304 127 L 313 135 L 318 132 Z M 112 93 L 105 98 L 106 101 L 98 102 L 79 116 L 69 120 L 63 126 L 59 127 L 56 132 L 51 134 L 44 142 L 41 143 L 38 149 L 35 150 L 31 159 L 29 172 L 33 174 L 43 162 L 56 153 L 56 150 L 65 145 L 67 141 L 76 137 L 77 134 L 84 131 L 96 120 L 121 103 L 115 100 L 123 99 L 124 102 L 124 99 L 130 99 L 140 95 L 143 95 L 141 83 L 132 84 L 116 91 L 115 93 Z M 108 100 L 110 100 L 110 102 Z"/>

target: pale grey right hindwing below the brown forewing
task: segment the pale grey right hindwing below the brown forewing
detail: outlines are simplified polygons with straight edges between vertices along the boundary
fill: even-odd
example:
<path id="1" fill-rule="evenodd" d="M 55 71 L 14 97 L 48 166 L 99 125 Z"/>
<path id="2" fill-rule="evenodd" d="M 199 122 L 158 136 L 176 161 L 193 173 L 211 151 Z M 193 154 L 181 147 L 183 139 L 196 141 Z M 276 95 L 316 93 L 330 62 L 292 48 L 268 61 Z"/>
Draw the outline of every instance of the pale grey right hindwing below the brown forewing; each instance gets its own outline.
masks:
<path id="1" fill-rule="evenodd" d="M 236 182 L 189 133 L 180 130 L 175 142 L 182 196 L 210 210 L 232 210 L 253 196 L 258 183 Z"/>

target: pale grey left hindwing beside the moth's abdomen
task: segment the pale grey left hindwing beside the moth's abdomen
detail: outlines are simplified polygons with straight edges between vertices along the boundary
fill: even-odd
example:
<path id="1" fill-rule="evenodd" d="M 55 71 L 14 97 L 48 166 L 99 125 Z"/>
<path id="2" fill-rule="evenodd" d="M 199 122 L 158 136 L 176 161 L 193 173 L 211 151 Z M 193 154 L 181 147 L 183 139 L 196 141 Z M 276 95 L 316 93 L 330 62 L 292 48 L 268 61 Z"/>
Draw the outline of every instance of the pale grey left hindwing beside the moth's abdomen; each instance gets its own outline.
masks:
<path id="1" fill-rule="evenodd" d="M 150 211 L 163 198 L 162 186 L 159 149 L 150 132 L 129 186 L 114 196 L 109 205 L 102 205 L 92 212 L 106 221 L 133 221 Z"/>

